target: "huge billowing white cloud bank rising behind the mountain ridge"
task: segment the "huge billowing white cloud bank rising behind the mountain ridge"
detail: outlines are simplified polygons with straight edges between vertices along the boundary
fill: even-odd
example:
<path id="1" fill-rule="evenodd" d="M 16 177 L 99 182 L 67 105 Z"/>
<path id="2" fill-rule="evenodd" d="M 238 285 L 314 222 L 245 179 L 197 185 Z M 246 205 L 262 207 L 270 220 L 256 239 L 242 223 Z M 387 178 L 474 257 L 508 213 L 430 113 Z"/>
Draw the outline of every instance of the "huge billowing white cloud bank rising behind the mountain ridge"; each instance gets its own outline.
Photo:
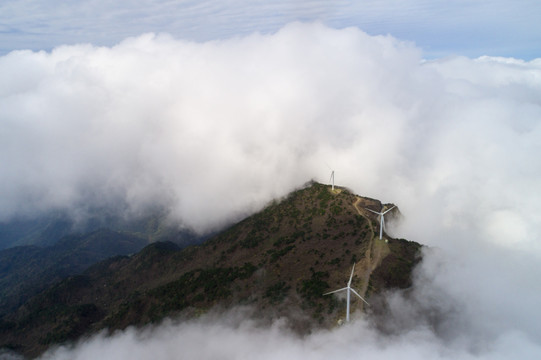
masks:
<path id="1" fill-rule="evenodd" d="M 373 184 L 399 156 L 426 76 L 418 51 L 391 38 L 300 24 L 1 60 L 2 218 L 159 202 L 198 230 L 327 178 L 325 162 Z M 382 141 L 399 143 L 375 159 Z"/>

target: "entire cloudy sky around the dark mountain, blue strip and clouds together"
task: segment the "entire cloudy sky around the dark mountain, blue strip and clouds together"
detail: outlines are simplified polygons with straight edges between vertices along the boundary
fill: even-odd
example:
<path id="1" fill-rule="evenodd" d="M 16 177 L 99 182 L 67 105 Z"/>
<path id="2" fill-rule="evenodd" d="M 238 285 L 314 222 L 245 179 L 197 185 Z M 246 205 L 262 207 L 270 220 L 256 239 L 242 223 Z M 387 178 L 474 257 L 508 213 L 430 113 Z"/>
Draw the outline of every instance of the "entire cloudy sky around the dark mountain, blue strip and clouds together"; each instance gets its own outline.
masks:
<path id="1" fill-rule="evenodd" d="M 539 358 L 539 7 L 485 3 L 0 5 L 1 220 L 160 205 L 205 233 L 333 169 L 428 245 L 411 296 L 386 297 L 392 335 L 357 313 L 298 338 L 234 309 L 43 358 Z"/>

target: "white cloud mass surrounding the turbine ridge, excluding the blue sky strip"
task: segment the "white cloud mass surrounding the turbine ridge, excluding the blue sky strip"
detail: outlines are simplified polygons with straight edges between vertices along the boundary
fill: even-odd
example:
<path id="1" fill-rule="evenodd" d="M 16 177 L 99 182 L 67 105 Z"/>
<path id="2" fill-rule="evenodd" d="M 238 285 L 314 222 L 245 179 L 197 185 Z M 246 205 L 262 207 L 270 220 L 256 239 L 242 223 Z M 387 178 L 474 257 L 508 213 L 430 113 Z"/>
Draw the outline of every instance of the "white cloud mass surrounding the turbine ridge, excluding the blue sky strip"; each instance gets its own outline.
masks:
<path id="1" fill-rule="evenodd" d="M 376 345 L 340 342 L 342 329 L 305 340 L 278 331 L 291 348 L 269 357 L 328 355 L 330 345 L 317 345 L 326 341 L 373 358 L 506 358 L 514 347 L 527 357 L 541 344 L 540 88 L 539 60 L 426 62 L 392 37 L 320 24 L 12 52 L 0 58 L 0 216 L 161 203 L 206 231 L 326 181 L 327 163 L 338 185 L 400 207 L 396 236 L 439 250 L 419 269 L 412 305 L 389 298 L 408 325 L 396 342 L 361 321 L 352 333 Z M 443 333 L 407 321 L 432 307 Z M 257 343 L 230 336 L 245 335 Z M 257 350 L 246 346 L 227 351 Z"/>

